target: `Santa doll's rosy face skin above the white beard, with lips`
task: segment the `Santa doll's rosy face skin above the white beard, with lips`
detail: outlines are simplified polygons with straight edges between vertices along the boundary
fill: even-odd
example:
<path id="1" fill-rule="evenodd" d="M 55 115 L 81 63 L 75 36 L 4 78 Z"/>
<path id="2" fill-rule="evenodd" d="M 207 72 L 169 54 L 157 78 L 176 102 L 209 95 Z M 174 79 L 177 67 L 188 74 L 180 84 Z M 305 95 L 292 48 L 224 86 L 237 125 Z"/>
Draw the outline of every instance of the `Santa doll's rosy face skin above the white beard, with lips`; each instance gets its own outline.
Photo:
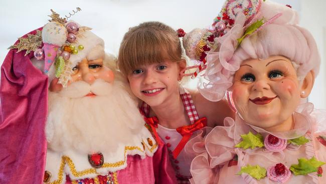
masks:
<path id="1" fill-rule="evenodd" d="M 72 80 L 68 82 L 70 85 L 72 82 L 85 81 L 88 84 L 94 83 L 96 79 L 103 79 L 108 83 L 112 83 L 114 80 L 114 74 L 112 70 L 103 65 L 103 59 L 87 60 L 87 58 L 82 59 L 78 65 L 73 67 L 73 72 L 71 74 Z M 58 92 L 62 90 L 62 85 L 58 83 L 58 78 L 55 78 L 50 83 L 50 91 Z M 88 96 L 92 97 L 94 94 L 90 91 Z"/>

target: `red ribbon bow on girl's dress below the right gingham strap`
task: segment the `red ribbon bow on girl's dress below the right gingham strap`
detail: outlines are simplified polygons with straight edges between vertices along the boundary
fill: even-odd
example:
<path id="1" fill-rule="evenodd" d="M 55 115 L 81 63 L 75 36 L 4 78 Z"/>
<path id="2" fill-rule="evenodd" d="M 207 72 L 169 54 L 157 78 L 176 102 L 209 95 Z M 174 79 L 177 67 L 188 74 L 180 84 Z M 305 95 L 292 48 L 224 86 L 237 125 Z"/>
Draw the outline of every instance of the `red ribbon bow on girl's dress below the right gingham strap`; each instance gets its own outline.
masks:
<path id="1" fill-rule="evenodd" d="M 175 150 L 172 152 L 173 157 L 176 159 L 178 155 L 180 154 L 181 150 L 185 147 L 186 143 L 189 141 L 190 137 L 193 135 L 193 133 L 196 130 L 200 130 L 207 125 L 207 118 L 201 118 L 197 120 L 194 124 L 192 125 L 186 125 L 177 128 L 177 132 L 179 132 L 182 135 L 182 139 L 175 148 Z"/>

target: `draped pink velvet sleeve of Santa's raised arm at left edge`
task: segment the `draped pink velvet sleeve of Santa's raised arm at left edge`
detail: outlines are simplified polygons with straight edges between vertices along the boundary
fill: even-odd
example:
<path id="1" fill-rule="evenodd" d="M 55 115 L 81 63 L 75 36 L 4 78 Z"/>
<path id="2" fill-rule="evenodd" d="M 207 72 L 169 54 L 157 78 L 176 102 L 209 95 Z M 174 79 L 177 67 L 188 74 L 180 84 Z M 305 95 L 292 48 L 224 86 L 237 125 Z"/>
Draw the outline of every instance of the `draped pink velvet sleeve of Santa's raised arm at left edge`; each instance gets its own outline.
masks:
<path id="1" fill-rule="evenodd" d="M 1 67 L 0 183 L 43 183 L 48 77 L 32 65 L 33 52 L 16 52 Z"/>

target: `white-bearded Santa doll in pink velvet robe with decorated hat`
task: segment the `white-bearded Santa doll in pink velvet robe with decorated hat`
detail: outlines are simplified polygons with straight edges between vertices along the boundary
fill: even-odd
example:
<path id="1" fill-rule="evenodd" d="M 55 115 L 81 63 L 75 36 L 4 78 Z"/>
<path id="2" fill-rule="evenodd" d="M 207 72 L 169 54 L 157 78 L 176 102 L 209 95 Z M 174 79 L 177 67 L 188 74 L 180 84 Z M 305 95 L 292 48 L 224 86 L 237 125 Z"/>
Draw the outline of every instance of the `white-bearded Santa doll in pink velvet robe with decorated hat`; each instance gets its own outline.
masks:
<path id="1" fill-rule="evenodd" d="M 51 18 L 1 68 L 0 183 L 175 183 L 104 41 Z"/>

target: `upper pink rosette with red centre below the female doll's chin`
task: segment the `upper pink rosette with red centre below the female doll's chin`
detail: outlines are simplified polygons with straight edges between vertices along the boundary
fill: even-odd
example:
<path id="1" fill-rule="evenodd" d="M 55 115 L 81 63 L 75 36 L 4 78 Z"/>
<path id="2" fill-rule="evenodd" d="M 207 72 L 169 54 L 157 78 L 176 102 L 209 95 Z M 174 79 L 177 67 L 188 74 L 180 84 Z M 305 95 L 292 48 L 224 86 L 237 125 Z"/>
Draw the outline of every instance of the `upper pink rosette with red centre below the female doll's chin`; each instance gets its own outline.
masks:
<path id="1" fill-rule="evenodd" d="M 267 150 L 272 152 L 282 151 L 286 148 L 287 140 L 277 138 L 271 134 L 265 137 L 264 146 Z"/>

